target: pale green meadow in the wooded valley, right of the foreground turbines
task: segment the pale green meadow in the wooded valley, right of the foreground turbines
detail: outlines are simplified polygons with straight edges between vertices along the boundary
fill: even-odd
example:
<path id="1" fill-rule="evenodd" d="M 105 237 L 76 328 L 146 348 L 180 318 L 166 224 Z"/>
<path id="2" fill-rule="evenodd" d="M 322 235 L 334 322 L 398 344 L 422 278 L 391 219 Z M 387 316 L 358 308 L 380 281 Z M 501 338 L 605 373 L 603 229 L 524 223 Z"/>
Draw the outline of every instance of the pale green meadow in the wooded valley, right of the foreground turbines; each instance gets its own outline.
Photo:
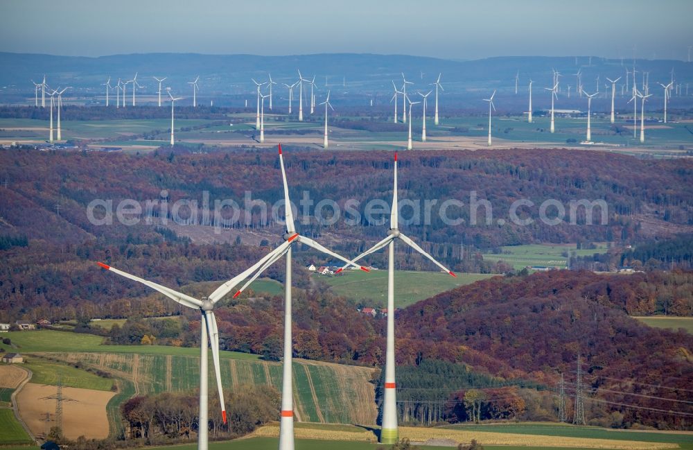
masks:
<path id="1" fill-rule="evenodd" d="M 574 244 L 530 244 L 530 245 L 510 245 L 501 247 L 502 253 L 484 253 L 486 261 L 505 261 L 519 270 L 527 266 L 556 266 L 567 267 L 568 258 L 564 257 L 563 252 L 571 254 L 575 252 L 577 256 L 591 256 L 595 253 L 606 252 L 606 245 L 599 244 L 593 250 L 577 250 Z"/>

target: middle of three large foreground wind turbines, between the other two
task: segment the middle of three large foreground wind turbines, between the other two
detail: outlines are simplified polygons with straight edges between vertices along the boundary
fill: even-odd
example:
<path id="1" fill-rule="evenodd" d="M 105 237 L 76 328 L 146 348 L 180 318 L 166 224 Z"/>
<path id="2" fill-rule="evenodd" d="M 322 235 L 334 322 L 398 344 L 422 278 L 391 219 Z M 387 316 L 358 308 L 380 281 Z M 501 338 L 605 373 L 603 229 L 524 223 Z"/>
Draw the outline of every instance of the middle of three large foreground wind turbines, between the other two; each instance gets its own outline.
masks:
<path id="1" fill-rule="evenodd" d="M 258 265 L 261 266 L 255 272 L 242 288 L 238 289 L 234 298 L 238 297 L 241 292 L 249 286 L 262 272 L 270 267 L 275 261 L 286 255 L 286 279 L 284 282 L 284 356 L 283 356 L 283 375 L 281 384 L 281 421 L 279 422 L 279 450 L 294 449 L 294 408 L 293 408 L 293 390 L 292 390 L 292 333 L 291 333 L 291 248 L 292 245 L 302 243 L 310 248 L 328 254 L 344 261 L 349 266 L 355 266 L 361 270 L 368 272 L 365 267 L 360 267 L 358 264 L 349 259 L 328 250 L 319 243 L 308 239 L 306 236 L 300 236 L 296 232 L 294 226 L 294 216 L 291 210 L 291 201 L 289 199 L 289 188 L 286 182 L 286 171 L 284 170 L 284 160 L 281 155 L 281 144 L 279 145 L 279 166 L 281 166 L 281 178 L 284 184 L 284 210 L 286 214 L 286 233 L 283 236 L 284 242 L 279 247 L 268 253 L 258 264 L 253 266 L 255 270 Z M 240 277 L 240 275 L 239 275 Z"/>

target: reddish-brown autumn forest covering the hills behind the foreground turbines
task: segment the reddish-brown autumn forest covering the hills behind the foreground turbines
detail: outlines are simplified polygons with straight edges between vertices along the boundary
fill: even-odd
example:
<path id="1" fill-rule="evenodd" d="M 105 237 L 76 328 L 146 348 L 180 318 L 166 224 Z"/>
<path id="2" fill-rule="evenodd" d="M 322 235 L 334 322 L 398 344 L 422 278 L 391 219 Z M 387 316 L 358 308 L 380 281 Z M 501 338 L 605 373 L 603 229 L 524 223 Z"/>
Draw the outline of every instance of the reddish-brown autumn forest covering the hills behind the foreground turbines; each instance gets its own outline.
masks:
<path id="1" fill-rule="evenodd" d="M 308 191 L 316 203 L 330 198 L 342 209 L 349 199 L 360 205 L 376 199 L 389 204 L 391 153 L 287 148 L 285 157 L 294 202 Z M 638 244 L 689 230 L 693 223 L 693 162 L 685 159 L 644 160 L 590 151 L 568 155 L 568 150 L 479 150 L 400 153 L 399 162 L 401 201 L 438 200 L 439 207 L 444 200 L 457 198 L 468 205 L 469 193 L 475 190 L 477 198 L 491 202 L 493 225 L 471 225 L 468 207 L 450 209 L 448 216 L 457 214 L 464 222 L 447 225 L 433 206 L 436 219 L 432 223 L 402 226 L 455 269 L 470 267 L 471 252 L 499 245 Z M 0 320 L 83 321 L 177 313 L 175 306 L 146 288 L 107 276 L 95 261 L 180 288 L 229 279 L 281 240 L 281 225 L 263 222 L 259 208 L 249 214 L 247 225 L 234 225 L 238 239 L 227 243 L 204 242 L 195 232 L 188 239 L 186 233 L 176 234 L 157 220 L 151 225 L 125 226 L 117 220 L 114 225 L 94 225 L 87 219 L 87 205 L 98 198 L 113 200 L 114 205 L 124 198 L 159 200 L 160 207 L 163 200 L 173 205 L 184 198 L 201 204 L 203 191 L 209 192 L 211 204 L 229 198 L 243 205 L 245 191 L 252 191 L 253 199 L 272 205 L 282 197 L 277 155 L 274 150 L 152 155 L 0 150 Z M 585 225 L 581 214 L 577 225 L 550 226 L 538 221 L 528 226 L 498 225 L 495 218 L 507 218 L 509 205 L 518 198 L 535 205 L 549 198 L 563 205 L 581 198 L 604 199 L 608 225 Z M 536 207 L 529 211 L 536 218 Z M 153 215 L 159 213 L 161 209 L 152 209 Z M 409 214 L 410 210 L 403 211 L 403 216 Z M 481 207 L 478 215 L 483 219 L 484 214 Z M 300 232 L 319 236 L 347 255 L 364 250 L 387 230 L 387 223 L 369 222 L 365 215 L 355 225 L 345 220 L 333 225 L 315 219 L 300 222 L 299 214 Z M 186 226 L 199 231 L 209 228 L 209 222 L 198 218 L 196 225 Z M 181 228 L 185 230 L 183 225 L 177 230 Z M 246 241 L 250 232 L 262 237 L 261 245 Z M 654 250 L 643 254 L 658 255 Z M 410 254 L 401 256 L 400 267 L 430 269 Z M 295 261 L 295 283 L 301 288 L 294 308 L 296 356 L 380 365 L 385 346 L 383 320 L 361 315 L 353 300 L 335 297 L 299 270 L 305 263 L 327 259 L 300 251 Z M 382 266 L 383 260 L 374 262 Z M 281 268 L 271 268 L 268 276 L 282 281 Z M 199 294 L 200 286 L 183 289 Z M 281 299 L 250 297 L 252 292 L 227 299 L 217 310 L 223 345 L 272 357 L 270 350 L 281 344 Z M 686 383 L 693 377 L 693 338 L 683 332 L 651 329 L 629 318 L 662 311 L 693 313 L 692 272 L 597 275 L 561 270 L 498 276 L 398 311 L 397 361 L 410 366 L 433 360 L 464 363 L 489 377 L 555 386 L 561 373 L 574 382 L 576 359 L 581 355 L 590 395 L 606 402 L 604 408 L 622 411 L 628 423 L 683 427 L 687 425 L 680 415 L 663 415 L 660 410 L 669 410 L 670 400 L 676 397 L 690 399 Z M 168 343 L 194 345 L 200 324 L 192 316 L 188 319 L 184 329 L 175 331 L 179 339 Z M 157 333 L 146 329 L 146 324 L 130 327 L 136 329 Z M 462 412 L 455 414 L 462 417 Z"/>

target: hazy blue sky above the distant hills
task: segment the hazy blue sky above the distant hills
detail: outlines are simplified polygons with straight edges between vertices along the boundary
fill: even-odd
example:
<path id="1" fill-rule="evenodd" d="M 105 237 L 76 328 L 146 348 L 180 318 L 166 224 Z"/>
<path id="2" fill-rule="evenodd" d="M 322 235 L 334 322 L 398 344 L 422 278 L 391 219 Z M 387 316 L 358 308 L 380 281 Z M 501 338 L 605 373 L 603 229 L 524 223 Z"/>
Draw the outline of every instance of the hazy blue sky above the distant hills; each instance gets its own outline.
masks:
<path id="1" fill-rule="evenodd" d="M 687 58 L 693 0 L 0 0 L 0 51 Z"/>

